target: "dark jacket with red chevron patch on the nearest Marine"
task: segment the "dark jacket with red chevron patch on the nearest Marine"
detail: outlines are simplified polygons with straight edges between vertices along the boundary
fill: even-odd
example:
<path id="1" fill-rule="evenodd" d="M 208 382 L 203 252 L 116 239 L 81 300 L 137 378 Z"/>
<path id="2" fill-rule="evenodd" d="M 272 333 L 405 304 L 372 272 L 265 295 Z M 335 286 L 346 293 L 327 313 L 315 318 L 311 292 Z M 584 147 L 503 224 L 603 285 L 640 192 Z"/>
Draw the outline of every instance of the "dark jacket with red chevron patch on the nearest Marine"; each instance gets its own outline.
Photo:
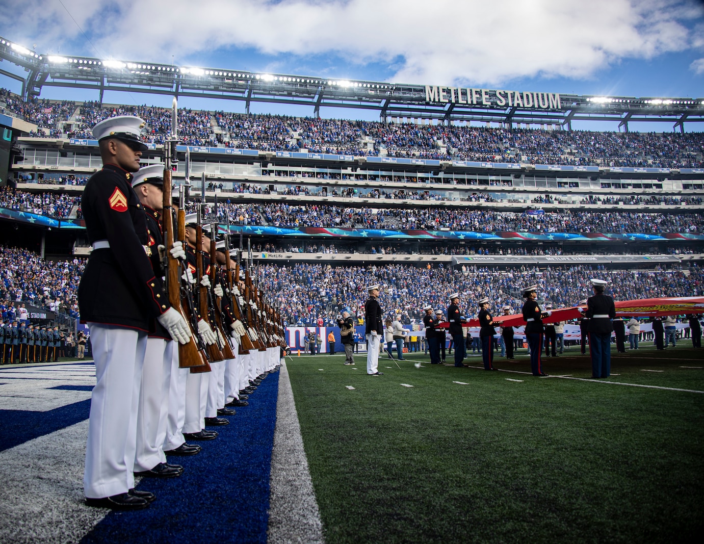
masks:
<path id="1" fill-rule="evenodd" d="M 150 331 L 153 318 L 168 310 L 161 277 L 144 246 L 146 215 L 130 182 L 132 174 L 104 165 L 88 180 L 81 198 L 88 241 L 107 240 L 94 250 L 78 286 L 82 322 Z"/>

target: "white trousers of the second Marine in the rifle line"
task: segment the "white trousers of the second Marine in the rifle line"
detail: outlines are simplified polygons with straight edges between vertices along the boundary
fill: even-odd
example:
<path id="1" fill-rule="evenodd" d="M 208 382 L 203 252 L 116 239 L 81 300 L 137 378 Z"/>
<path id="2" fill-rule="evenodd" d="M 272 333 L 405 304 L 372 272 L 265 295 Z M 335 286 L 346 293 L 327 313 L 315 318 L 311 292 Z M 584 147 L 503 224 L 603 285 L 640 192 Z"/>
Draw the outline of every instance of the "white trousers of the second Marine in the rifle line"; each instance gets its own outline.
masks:
<path id="1" fill-rule="evenodd" d="M 142 387 L 137 411 L 137 451 L 135 472 L 151 470 L 166 462 L 163 452 L 166 435 L 166 412 L 169 409 L 169 374 L 173 342 L 161 338 L 146 340 Z M 162 417 L 163 414 L 163 417 Z"/>

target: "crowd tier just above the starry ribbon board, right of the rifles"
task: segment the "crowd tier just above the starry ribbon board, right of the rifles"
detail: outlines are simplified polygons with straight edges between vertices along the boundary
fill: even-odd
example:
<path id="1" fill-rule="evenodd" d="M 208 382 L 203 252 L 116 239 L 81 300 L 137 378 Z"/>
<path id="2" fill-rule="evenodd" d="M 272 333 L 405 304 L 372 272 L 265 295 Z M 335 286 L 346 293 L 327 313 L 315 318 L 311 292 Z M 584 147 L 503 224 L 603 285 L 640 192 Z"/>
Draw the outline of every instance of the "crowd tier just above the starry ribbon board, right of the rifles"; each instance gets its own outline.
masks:
<path id="1" fill-rule="evenodd" d="M 194 211 L 195 205 L 189 205 Z M 208 210 L 212 205 L 208 205 Z M 533 210 L 499 212 L 464 208 L 344 208 L 337 205 L 287 203 L 234 204 L 218 202 L 218 213 L 232 224 L 274 227 L 345 227 L 359 229 L 437 230 L 470 232 L 704 232 L 704 216 L 696 213 L 584 212 Z"/>

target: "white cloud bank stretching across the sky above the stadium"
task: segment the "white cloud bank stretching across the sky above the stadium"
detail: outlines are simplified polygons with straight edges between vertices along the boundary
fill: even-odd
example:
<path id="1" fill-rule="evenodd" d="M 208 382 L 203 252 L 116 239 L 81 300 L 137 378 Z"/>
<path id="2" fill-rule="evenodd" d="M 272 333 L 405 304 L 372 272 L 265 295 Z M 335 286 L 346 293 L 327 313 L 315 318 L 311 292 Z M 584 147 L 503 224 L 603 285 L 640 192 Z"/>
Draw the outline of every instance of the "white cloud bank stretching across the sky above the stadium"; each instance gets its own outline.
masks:
<path id="1" fill-rule="evenodd" d="M 391 65 L 401 56 L 405 62 L 394 64 L 391 80 L 439 84 L 589 77 L 622 58 L 695 46 L 698 32 L 686 23 L 701 15 L 692 0 L 63 2 L 96 48 L 115 58 L 196 58 L 225 47 L 271 55 L 337 53 L 359 64 Z M 4 13 L 19 15 L 0 15 L 0 27 L 11 20 L 12 32 L 38 29 L 27 39 L 55 51 L 84 40 L 55 0 L 11 4 Z"/>

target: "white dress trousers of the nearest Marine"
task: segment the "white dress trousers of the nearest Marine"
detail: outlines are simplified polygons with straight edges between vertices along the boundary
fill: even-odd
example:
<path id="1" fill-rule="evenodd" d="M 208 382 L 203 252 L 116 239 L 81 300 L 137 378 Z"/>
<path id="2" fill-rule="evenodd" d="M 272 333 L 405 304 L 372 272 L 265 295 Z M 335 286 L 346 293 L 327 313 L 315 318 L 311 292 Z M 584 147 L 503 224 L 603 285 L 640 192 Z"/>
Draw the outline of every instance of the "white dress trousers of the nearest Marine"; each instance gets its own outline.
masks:
<path id="1" fill-rule="evenodd" d="M 134 487 L 137 406 L 146 333 L 89 323 L 96 385 L 91 395 L 83 490 L 88 498 Z"/>

